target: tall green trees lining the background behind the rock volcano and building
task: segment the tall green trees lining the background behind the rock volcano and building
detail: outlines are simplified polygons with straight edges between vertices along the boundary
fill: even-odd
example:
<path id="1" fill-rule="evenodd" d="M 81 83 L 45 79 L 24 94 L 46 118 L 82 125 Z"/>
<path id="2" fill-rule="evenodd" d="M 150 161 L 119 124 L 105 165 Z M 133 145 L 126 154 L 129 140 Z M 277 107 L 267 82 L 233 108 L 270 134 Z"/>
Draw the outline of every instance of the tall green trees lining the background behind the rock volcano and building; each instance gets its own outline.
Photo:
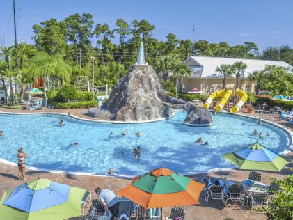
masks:
<path id="1" fill-rule="evenodd" d="M 267 47 L 260 53 L 254 42 L 230 46 L 227 42 L 198 40 L 192 45 L 191 40 L 180 40 L 175 33 L 169 33 L 166 40 L 157 40 L 152 38 L 154 30 L 155 25 L 145 19 L 126 22 L 119 18 L 110 29 L 109 24 L 95 24 L 89 13 L 70 15 L 61 21 L 52 18 L 33 25 L 33 45 L 22 42 L 17 47 L 1 47 L 0 79 L 2 84 L 4 78 L 9 84 L 15 81 L 19 87 L 10 95 L 11 103 L 21 98 L 24 84 L 40 77 L 53 91 L 64 83 L 73 84 L 78 76 L 91 78 L 92 72 L 95 84 L 114 86 L 135 63 L 141 41 L 147 62 L 163 74 L 164 84 L 168 84 L 169 73 L 173 72 L 171 81 L 176 88 L 190 74 L 180 63 L 192 54 L 193 46 L 198 56 L 260 58 L 293 64 L 293 49 L 288 45 Z"/>

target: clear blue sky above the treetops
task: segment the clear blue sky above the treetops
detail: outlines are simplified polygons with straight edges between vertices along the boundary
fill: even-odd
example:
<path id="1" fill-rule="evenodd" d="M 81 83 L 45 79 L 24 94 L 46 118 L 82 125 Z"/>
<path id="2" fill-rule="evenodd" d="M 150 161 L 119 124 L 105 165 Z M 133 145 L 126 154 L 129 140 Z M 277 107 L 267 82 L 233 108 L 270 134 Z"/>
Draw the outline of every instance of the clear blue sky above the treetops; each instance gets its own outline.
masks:
<path id="1" fill-rule="evenodd" d="M 15 0 L 17 40 L 33 43 L 33 24 L 47 19 L 58 21 L 74 13 L 90 13 L 96 23 L 115 28 L 116 19 L 127 22 L 146 19 L 155 25 L 152 37 L 177 38 L 241 45 L 253 41 L 260 52 L 268 46 L 293 47 L 292 0 Z M 1 1 L 0 45 L 13 44 L 13 0 Z M 118 39 L 113 40 L 118 42 Z"/>

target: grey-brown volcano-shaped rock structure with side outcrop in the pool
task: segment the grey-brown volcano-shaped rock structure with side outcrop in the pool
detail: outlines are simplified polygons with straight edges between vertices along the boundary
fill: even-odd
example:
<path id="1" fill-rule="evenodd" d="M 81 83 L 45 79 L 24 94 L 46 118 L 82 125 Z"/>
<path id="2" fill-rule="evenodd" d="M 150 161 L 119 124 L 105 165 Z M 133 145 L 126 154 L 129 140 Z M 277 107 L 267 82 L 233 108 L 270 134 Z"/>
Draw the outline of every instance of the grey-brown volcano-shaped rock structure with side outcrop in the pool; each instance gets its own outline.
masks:
<path id="1" fill-rule="evenodd" d="M 177 100 L 160 92 L 159 78 L 150 65 L 132 65 L 111 91 L 102 107 L 88 110 L 88 116 L 102 120 L 143 122 L 173 116 L 171 107 L 186 109 L 184 124 L 212 125 L 207 109 Z"/>

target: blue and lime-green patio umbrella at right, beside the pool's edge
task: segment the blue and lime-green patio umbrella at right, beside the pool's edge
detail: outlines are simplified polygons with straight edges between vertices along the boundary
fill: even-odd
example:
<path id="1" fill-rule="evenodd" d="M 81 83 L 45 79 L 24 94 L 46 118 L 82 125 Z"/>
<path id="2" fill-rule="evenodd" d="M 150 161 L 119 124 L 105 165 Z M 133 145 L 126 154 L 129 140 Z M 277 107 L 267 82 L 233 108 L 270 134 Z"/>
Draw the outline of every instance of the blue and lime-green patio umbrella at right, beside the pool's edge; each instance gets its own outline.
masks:
<path id="1" fill-rule="evenodd" d="M 259 143 L 239 148 L 223 157 L 242 170 L 281 171 L 289 163 L 285 157 Z"/>

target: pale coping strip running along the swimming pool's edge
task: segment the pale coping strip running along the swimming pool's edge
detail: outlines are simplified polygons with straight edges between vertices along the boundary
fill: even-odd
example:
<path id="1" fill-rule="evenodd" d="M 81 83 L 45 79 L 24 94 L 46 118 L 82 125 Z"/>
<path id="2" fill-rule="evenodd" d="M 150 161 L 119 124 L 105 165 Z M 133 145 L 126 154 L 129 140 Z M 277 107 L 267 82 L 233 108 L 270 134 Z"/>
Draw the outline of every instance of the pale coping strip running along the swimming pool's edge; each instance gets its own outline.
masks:
<path id="1" fill-rule="evenodd" d="M 173 114 L 172 116 L 168 117 L 168 118 L 172 118 L 175 115 L 176 111 L 180 111 L 180 110 L 173 110 Z M 10 115 L 42 115 L 44 114 L 44 112 L 32 112 L 32 113 L 16 113 L 16 112 L 6 112 L 6 111 L 0 111 L 0 114 L 10 114 Z M 253 117 L 253 116 L 247 116 L 247 115 L 243 115 L 240 113 L 230 113 L 227 111 L 221 111 L 219 113 L 225 113 L 225 114 L 230 114 L 230 115 L 236 115 L 236 116 L 241 116 L 244 118 L 251 118 L 253 120 L 258 120 L 257 118 Z M 74 115 L 70 115 L 70 117 L 68 116 L 67 113 L 58 113 L 58 112 L 52 112 L 51 114 L 54 115 L 62 115 L 62 116 L 67 116 L 68 118 L 73 118 L 75 120 L 82 120 L 84 122 L 91 122 L 91 123 L 104 123 L 104 121 L 97 121 L 97 120 L 90 120 L 90 119 L 86 119 L 86 118 L 81 118 L 78 116 L 74 116 Z M 168 118 L 163 118 L 161 120 L 167 120 Z M 150 123 L 152 122 L 159 122 L 161 120 L 152 120 L 150 121 Z M 278 123 L 274 123 L 271 122 L 269 120 L 265 120 L 262 119 L 262 121 L 264 123 L 268 123 L 270 125 L 274 125 L 276 127 L 278 127 L 279 129 L 282 129 L 285 133 L 287 133 L 287 136 L 289 138 L 289 145 L 287 146 L 287 148 L 285 148 L 285 150 L 283 150 L 282 152 L 279 152 L 280 155 L 287 155 L 290 152 L 293 151 L 293 132 L 290 131 L 290 129 L 287 129 L 287 127 L 284 127 L 283 125 L 279 125 Z M 113 123 L 113 122 L 108 122 L 108 123 L 112 123 L 112 124 L 119 124 L 119 123 Z M 147 122 L 136 122 L 136 123 L 147 123 Z M 120 123 L 120 124 L 123 124 Z M 129 122 L 125 123 L 125 124 L 129 124 Z M 2 159 L 0 158 L 0 162 L 3 164 L 8 164 L 10 166 L 17 166 L 17 163 L 15 162 L 10 162 L 6 159 Z M 42 172 L 47 172 L 47 173 L 58 173 L 58 174 L 70 174 L 70 175 L 86 175 L 86 176 L 97 176 L 97 177 L 115 177 L 115 178 L 127 178 L 127 179 L 132 179 L 134 177 L 136 177 L 137 175 L 127 175 L 127 174 L 116 174 L 116 175 L 109 175 L 106 173 L 87 173 L 87 172 L 74 172 L 74 171 L 60 171 L 60 170 L 51 170 L 51 169 L 47 169 L 47 168 L 38 168 L 35 166 L 26 166 L 27 169 L 31 170 L 31 171 L 42 171 Z M 209 173 L 209 172 L 219 172 L 219 171 L 230 171 L 230 170 L 237 170 L 239 168 L 235 168 L 235 166 L 231 166 L 230 168 L 212 168 L 212 169 L 208 169 L 206 171 L 198 171 L 198 172 L 184 172 L 184 173 L 180 173 L 181 175 L 197 175 L 197 174 L 201 174 L 201 173 Z"/>

